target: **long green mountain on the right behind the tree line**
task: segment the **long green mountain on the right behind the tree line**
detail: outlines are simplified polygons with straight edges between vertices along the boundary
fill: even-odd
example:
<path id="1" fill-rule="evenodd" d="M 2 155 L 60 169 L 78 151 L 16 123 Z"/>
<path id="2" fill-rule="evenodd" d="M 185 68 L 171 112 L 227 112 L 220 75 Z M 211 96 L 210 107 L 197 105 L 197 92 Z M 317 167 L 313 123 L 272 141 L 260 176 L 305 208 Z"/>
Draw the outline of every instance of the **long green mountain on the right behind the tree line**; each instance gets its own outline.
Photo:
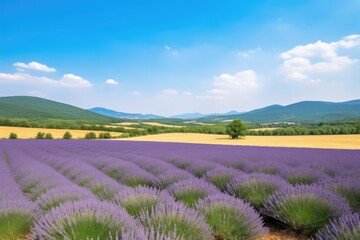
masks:
<path id="1" fill-rule="evenodd" d="M 304 101 L 287 106 L 271 105 L 250 112 L 208 116 L 201 121 L 228 121 L 242 119 L 256 123 L 272 122 L 328 122 L 337 120 L 360 119 L 360 100 L 348 102 Z"/>

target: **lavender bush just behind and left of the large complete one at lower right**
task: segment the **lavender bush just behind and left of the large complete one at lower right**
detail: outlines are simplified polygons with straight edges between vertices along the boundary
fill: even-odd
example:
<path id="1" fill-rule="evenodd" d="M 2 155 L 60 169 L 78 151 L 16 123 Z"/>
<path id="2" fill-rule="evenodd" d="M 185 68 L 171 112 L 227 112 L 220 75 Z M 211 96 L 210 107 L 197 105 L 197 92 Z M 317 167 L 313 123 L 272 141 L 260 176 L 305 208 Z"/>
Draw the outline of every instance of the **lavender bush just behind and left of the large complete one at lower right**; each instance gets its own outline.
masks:
<path id="1" fill-rule="evenodd" d="M 227 189 L 230 194 L 259 209 L 270 195 L 286 187 L 289 187 L 289 184 L 279 176 L 253 173 L 235 178 L 228 184 Z"/>

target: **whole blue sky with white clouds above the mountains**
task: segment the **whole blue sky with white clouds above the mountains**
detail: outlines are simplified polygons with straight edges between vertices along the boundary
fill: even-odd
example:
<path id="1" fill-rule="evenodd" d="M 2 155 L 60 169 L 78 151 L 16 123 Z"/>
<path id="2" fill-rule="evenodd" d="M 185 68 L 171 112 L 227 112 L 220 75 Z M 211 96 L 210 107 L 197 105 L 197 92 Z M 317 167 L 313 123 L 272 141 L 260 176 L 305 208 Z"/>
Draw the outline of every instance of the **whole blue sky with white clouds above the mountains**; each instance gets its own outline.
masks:
<path id="1" fill-rule="evenodd" d="M 0 96 L 165 116 L 360 98 L 358 16 L 358 0 L 0 0 Z"/>

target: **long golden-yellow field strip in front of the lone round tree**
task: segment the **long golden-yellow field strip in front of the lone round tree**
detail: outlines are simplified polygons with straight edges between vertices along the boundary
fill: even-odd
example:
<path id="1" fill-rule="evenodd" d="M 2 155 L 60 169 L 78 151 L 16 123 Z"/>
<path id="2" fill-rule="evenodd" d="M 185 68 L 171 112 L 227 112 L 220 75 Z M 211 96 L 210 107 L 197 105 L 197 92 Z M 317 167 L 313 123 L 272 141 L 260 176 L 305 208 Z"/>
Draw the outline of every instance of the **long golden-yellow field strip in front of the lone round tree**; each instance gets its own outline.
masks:
<path id="1" fill-rule="evenodd" d="M 119 140 L 206 143 L 244 146 L 306 147 L 360 149 L 360 135 L 319 135 L 319 136 L 246 136 L 233 140 L 225 135 L 198 133 L 166 133 Z"/>

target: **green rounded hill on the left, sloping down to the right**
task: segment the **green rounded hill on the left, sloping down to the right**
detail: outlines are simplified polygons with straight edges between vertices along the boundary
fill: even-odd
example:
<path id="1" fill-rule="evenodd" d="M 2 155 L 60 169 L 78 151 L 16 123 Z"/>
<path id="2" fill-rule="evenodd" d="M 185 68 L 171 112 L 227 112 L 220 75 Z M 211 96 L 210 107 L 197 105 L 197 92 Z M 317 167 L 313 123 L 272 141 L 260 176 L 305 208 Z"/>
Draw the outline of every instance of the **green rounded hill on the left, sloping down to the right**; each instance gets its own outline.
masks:
<path id="1" fill-rule="evenodd" d="M 0 97 L 0 118 L 111 121 L 113 118 L 38 97 Z"/>

